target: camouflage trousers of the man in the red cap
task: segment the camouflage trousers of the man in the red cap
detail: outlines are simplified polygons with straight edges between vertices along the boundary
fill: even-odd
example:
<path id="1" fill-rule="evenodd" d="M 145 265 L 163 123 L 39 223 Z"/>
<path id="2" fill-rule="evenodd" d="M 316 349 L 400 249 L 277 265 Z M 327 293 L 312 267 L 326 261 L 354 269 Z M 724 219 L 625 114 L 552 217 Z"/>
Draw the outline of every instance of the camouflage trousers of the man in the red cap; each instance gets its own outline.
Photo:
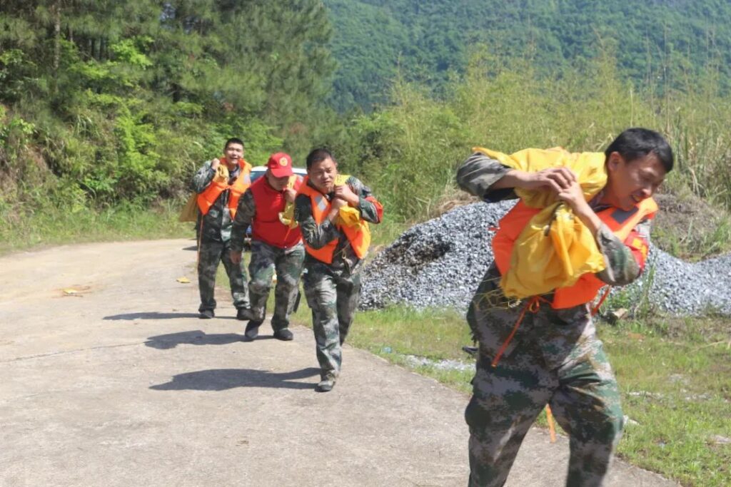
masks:
<path id="1" fill-rule="evenodd" d="M 289 327 L 289 313 L 295 307 L 300 292 L 300 275 L 304 259 L 305 247 L 302 244 L 283 249 L 260 240 L 251 241 L 249 298 L 253 321 L 264 321 L 272 277 L 276 272 L 272 329 L 278 331 Z"/>

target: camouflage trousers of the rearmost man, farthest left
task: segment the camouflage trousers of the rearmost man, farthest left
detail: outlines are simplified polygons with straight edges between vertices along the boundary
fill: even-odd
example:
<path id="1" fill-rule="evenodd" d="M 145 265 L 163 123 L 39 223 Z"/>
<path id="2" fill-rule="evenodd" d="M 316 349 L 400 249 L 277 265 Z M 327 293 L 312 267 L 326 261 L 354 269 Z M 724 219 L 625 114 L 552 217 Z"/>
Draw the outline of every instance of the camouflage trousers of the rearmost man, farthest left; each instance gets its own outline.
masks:
<path id="1" fill-rule="evenodd" d="M 200 289 L 199 311 L 215 310 L 216 299 L 213 289 L 216 286 L 216 270 L 223 261 L 231 285 L 233 305 L 237 309 L 249 307 L 249 290 L 246 287 L 246 270 L 243 264 L 234 264 L 230 257 L 230 241 L 200 242 L 198 246 L 198 288 Z"/>

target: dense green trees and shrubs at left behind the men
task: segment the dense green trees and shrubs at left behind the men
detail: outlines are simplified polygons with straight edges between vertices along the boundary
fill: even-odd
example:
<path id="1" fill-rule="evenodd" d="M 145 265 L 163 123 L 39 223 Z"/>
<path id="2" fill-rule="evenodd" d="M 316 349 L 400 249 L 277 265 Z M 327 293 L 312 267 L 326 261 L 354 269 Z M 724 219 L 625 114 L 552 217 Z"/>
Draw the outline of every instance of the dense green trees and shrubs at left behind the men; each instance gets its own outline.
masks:
<path id="1" fill-rule="evenodd" d="M 322 118 L 330 33 L 315 0 L 4 0 L 0 202 L 144 203 L 232 135 L 254 163 L 296 148 Z"/>

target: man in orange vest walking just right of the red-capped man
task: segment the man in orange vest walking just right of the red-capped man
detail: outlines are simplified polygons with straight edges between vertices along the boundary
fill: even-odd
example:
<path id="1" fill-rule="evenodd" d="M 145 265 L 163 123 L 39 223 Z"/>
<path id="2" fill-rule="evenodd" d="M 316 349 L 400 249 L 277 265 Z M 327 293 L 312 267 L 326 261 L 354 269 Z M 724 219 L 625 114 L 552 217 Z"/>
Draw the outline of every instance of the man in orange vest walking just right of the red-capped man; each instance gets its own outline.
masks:
<path id="1" fill-rule="evenodd" d="M 368 250 L 367 244 L 346 234 L 340 209 L 355 208 L 359 224 L 367 226 L 366 222 L 380 223 L 383 208 L 356 177 L 338 175 L 337 161 L 325 149 L 307 156 L 307 174 L 295 199 L 295 219 L 307 250 L 303 281 L 320 366 L 316 390 L 327 392 L 340 373 L 341 345 L 360 299 L 360 273 Z"/>

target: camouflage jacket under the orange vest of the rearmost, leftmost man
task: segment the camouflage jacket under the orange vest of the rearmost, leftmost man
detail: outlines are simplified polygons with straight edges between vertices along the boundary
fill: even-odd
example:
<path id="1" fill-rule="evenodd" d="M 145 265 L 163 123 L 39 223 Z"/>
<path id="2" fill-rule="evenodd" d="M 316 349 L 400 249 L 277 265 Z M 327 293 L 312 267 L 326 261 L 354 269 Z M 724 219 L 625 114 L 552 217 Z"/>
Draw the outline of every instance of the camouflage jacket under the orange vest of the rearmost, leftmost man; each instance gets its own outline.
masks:
<path id="1" fill-rule="evenodd" d="M 211 169 L 211 163 L 213 161 L 207 161 L 201 166 L 200 169 L 193 176 L 191 182 L 191 188 L 196 193 L 200 194 L 208 188 L 211 184 L 213 176 L 216 175 L 216 171 Z M 229 172 L 229 183 L 238 177 L 241 169 L 236 166 L 235 169 Z M 211 209 L 208 210 L 206 215 L 201 215 L 198 212 L 198 221 L 196 223 L 196 231 L 202 233 L 198 238 L 201 242 L 227 242 L 231 238 L 231 228 L 233 221 L 231 218 L 231 212 L 228 210 L 228 199 L 231 191 L 225 190 L 221 192 L 221 195 L 216 202 L 213 203 Z M 202 218 L 202 226 L 201 226 Z"/>

